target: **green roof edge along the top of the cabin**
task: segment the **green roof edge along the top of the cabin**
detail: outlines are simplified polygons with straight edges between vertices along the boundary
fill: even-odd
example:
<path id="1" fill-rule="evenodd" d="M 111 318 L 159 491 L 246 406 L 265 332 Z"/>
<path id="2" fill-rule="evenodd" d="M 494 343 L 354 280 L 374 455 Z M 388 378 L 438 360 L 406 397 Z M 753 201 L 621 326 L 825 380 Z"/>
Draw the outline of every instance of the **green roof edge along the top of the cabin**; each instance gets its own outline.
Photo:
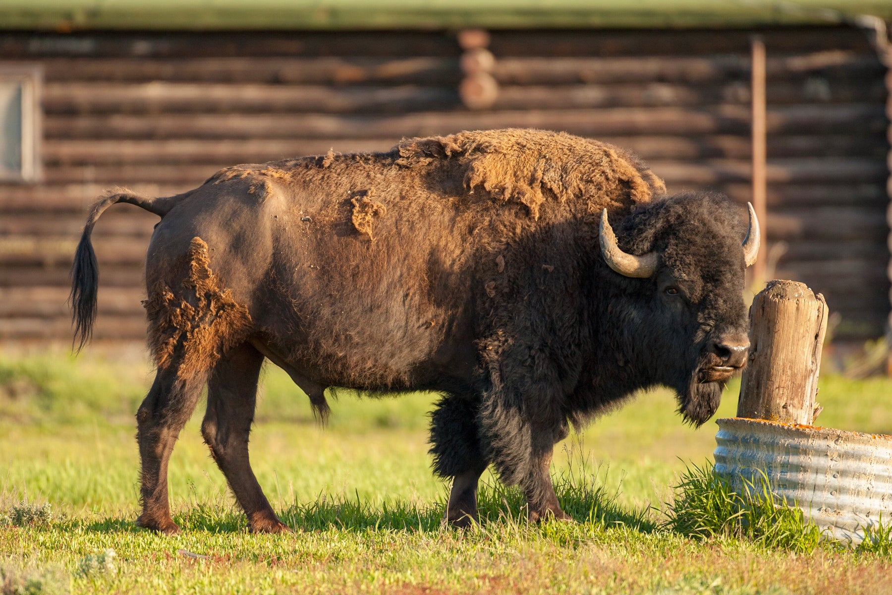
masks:
<path id="1" fill-rule="evenodd" d="M 151 4 L 150 4 L 151 3 Z M 249 4 L 250 5 L 246 5 Z M 146 6 L 145 4 L 150 4 Z M 260 29 L 599 29 L 738 28 L 838 24 L 860 13 L 892 19 L 892 0 L 563 0 L 544 5 L 499 0 L 4 0 L 0 29 L 69 31 Z"/>

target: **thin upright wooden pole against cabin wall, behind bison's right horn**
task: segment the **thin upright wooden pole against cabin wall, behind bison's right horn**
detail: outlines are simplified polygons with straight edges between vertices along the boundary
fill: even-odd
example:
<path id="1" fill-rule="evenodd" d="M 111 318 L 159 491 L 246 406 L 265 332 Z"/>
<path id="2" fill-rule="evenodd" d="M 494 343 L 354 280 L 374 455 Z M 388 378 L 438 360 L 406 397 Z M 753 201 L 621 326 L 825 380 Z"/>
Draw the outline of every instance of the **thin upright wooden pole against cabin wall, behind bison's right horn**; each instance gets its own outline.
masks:
<path id="1" fill-rule="evenodd" d="M 753 37 L 750 44 L 753 62 L 753 208 L 756 209 L 756 217 L 762 222 L 762 244 L 753 266 L 753 277 L 757 284 L 762 284 L 767 280 L 765 265 L 768 246 L 768 209 L 765 204 L 765 44 L 762 37 L 758 36 Z"/>

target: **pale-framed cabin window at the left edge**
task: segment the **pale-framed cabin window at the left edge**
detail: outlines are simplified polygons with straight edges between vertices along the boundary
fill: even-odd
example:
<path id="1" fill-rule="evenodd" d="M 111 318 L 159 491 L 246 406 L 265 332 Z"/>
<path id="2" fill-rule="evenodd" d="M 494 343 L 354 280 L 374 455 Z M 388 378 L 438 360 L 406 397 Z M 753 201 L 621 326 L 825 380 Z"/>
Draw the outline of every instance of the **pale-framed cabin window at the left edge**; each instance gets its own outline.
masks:
<path id="1" fill-rule="evenodd" d="M 40 178 L 39 66 L 0 64 L 0 182 Z"/>

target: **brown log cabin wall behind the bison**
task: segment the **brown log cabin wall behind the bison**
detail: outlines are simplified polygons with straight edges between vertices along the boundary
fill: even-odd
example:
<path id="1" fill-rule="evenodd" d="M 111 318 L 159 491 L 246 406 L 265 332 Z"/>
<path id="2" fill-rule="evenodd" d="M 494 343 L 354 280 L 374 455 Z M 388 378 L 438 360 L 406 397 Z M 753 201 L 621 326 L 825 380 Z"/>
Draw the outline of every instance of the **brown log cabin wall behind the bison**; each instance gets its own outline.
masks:
<path id="1" fill-rule="evenodd" d="M 860 30 L 760 29 L 768 52 L 768 209 L 776 277 L 824 293 L 837 338 L 889 314 L 884 68 Z M 493 31 L 491 108 L 469 111 L 453 34 L 0 33 L 0 63 L 44 70 L 44 178 L 0 186 L 0 341 L 70 338 L 68 271 L 110 186 L 168 195 L 216 169 L 386 150 L 402 136 L 566 130 L 640 153 L 671 192 L 749 199 L 747 30 Z M 140 339 L 154 216 L 95 228 L 95 338 Z M 774 250 L 777 254 L 777 250 Z"/>

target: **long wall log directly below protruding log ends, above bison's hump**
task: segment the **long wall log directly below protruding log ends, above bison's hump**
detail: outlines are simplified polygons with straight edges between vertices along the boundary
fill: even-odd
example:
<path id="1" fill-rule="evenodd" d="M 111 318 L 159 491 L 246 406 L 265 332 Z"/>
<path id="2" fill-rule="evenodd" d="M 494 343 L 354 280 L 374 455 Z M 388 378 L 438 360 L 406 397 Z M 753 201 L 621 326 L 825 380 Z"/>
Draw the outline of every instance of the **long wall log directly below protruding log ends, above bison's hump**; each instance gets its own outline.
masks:
<path id="1" fill-rule="evenodd" d="M 882 106 L 791 106 L 768 112 L 769 134 L 885 132 Z M 403 115 L 112 114 L 77 119 L 46 116 L 47 138 L 384 138 L 450 134 L 462 129 L 548 128 L 581 136 L 746 134 L 749 111 L 740 105 L 699 109 L 611 108 L 513 112 L 414 112 Z"/>

